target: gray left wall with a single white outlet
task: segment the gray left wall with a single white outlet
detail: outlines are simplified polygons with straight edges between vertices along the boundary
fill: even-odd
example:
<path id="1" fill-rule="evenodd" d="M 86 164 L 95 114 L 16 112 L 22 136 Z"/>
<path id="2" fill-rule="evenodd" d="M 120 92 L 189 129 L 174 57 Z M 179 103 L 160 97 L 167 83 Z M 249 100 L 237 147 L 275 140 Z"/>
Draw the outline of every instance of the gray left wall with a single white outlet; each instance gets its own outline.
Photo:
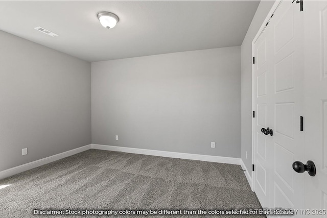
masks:
<path id="1" fill-rule="evenodd" d="M 90 144 L 91 64 L 3 31 L 0 42 L 0 171 Z"/>

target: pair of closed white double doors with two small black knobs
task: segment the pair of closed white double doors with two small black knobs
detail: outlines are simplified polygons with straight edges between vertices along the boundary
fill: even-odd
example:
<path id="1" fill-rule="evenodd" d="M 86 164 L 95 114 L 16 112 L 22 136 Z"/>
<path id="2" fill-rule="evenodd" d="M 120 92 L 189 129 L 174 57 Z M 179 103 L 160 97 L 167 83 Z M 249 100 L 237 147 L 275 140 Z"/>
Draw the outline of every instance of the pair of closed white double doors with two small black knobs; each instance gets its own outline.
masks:
<path id="1" fill-rule="evenodd" d="M 283 1 L 254 43 L 254 191 L 265 208 L 302 208 L 303 13 Z M 266 135 L 262 128 L 272 129 Z"/>

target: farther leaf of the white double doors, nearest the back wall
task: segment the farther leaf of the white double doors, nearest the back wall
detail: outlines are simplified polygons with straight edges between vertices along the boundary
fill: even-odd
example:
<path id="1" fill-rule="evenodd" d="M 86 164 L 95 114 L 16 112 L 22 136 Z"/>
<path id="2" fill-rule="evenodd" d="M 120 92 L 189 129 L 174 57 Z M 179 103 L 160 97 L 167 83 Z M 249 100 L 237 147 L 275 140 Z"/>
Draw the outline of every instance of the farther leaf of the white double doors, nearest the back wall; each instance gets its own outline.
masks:
<path id="1" fill-rule="evenodd" d="M 268 120 L 268 111 L 271 98 L 271 65 L 272 54 L 267 54 L 267 51 L 273 49 L 272 29 L 267 27 L 262 33 L 261 37 L 254 44 L 255 53 L 255 65 L 254 65 L 254 96 L 255 96 L 255 133 L 254 133 L 254 144 L 257 146 L 254 148 L 254 164 L 255 164 L 255 174 L 254 174 L 254 189 L 262 205 L 270 205 L 269 196 L 271 196 L 272 190 L 269 189 L 271 186 L 271 179 L 267 175 L 268 169 L 270 167 L 269 163 L 273 161 L 273 157 L 267 155 L 272 153 L 272 148 L 269 146 L 269 139 L 266 135 L 261 132 L 262 128 L 267 128 L 267 124 L 270 122 Z M 270 55 L 270 56 L 269 56 Z M 270 60 L 270 61 L 269 61 Z"/>

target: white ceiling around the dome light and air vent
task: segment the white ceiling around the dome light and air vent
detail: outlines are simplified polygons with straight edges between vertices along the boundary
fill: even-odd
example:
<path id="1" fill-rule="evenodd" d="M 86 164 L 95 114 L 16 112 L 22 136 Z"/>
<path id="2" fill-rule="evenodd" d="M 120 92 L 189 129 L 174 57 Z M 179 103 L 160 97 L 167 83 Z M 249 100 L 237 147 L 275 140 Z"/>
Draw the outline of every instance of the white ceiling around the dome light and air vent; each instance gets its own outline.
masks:
<path id="1" fill-rule="evenodd" d="M 241 45 L 258 5 L 259 1 L 0 1 L 0 30 L 95 62 Z M 101 11 L 119 16 L 115 28 L 100 25 Z"/>

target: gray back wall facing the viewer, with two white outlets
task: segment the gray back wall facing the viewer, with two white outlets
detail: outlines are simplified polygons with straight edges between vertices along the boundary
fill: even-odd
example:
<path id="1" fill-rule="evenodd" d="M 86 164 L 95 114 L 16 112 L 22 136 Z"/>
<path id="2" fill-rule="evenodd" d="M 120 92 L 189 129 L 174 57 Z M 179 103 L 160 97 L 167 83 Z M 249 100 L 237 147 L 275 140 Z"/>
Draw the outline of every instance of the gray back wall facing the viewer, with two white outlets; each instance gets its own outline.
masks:
<path id="1" fill-rule="evenodd" d="M 92 63 L 92 143 L 240 158 L 240 58 L 236 46 Z"/>

